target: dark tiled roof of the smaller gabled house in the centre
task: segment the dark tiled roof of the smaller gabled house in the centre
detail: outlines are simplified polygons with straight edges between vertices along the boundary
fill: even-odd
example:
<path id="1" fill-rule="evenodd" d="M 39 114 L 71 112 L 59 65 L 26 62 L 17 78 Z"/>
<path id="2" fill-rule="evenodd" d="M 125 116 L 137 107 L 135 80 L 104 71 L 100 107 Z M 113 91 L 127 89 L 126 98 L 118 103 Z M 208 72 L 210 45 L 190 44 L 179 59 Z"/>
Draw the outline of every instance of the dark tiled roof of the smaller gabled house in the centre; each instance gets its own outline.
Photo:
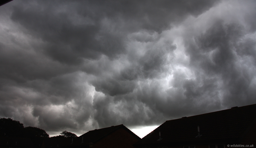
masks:
<path id="1" fill-rule="evenodd" d="M 101 138 L 107 136 L 108 134 L 112 133 L 113 131 L 115 131 L 119 128 L 124 128 L 126 131 L 130 132 L 135 137 L 138 137 L 131 130 L 129 130 L 123 124 L 121 124 L 121 125 L 111 126 L 111 127 L 102 128 L 102 129 L 90 130 L 87 133 L 74 139 L 73 145 L 85 145 L 85 144 L 89 144 L 89 143 L 95 143 L 98 140 L 100 140 Z M 83 143 L 82 143 L 82 138 L 83 138 Z M 140 137 L 138 137 L 138 139 L 140 139 Z"/>

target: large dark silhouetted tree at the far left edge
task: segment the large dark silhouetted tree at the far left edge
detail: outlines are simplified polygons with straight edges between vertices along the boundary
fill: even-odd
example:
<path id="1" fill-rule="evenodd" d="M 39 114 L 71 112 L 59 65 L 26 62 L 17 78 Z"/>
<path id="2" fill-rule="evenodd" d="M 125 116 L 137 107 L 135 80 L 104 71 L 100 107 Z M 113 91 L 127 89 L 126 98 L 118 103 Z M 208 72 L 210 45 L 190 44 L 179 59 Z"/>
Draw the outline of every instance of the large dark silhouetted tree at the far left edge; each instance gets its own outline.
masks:
<path id="1" fill-rule="evenodd" d="M 20 121 L 11 118 L 0 119 L 0 136 L 22 137 L 24 126 Z"/>

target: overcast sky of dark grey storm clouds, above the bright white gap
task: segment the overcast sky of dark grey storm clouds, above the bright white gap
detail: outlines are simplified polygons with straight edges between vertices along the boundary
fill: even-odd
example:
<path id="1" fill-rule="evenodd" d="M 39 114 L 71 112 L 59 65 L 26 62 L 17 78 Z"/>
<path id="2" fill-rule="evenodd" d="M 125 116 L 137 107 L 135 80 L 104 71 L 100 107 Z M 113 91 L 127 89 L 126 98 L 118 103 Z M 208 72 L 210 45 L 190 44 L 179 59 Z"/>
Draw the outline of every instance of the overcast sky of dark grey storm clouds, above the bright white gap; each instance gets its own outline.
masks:
<path id="1" fill-rule="evenodd" d="M 256 103 L 256 1 L 13 0 L 0 117 L 49 135 Z"/>

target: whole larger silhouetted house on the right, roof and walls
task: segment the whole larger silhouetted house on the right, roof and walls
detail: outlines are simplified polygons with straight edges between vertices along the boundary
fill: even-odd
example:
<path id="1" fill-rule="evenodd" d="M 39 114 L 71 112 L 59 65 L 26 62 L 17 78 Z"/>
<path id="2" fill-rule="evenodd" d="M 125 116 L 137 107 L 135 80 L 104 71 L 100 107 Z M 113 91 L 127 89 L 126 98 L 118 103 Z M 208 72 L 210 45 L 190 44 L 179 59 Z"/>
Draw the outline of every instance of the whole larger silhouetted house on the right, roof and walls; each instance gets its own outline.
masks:
<path id="1" fill-rule="evenodd" d="M 256 104 L 166 121 L 134 146 L 227 148 L 233 144 L 256 144 Z"/>

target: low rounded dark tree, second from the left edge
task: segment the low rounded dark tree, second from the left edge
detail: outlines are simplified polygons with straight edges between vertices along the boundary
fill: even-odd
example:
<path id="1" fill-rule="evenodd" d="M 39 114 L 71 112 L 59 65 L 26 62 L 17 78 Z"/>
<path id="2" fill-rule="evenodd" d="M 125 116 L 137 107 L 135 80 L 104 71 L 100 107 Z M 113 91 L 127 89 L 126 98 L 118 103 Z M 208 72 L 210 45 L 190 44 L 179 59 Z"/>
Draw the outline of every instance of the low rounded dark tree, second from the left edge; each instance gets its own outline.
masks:
<path id="1" fill-rule="evenodd" d="M 49 137 L 45 130 L 31 126 L 24 128 L 24 134 L 26 137 Z"/>

